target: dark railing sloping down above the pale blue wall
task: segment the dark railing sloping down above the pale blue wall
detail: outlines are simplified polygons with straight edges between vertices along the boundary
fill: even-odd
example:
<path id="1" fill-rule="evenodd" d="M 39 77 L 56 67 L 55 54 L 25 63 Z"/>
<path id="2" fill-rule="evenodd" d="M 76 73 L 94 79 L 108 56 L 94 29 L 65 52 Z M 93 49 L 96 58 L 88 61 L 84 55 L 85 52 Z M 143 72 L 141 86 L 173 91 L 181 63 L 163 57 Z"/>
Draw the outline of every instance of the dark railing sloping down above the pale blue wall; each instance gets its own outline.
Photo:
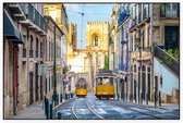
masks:
<path id="1" fill-rule="evenodd" d="M 159 46 L 155 46 L 154 49 L 155 57 L 161 60 L 168 67 L 170 67 L 176 75 L 180 75 L 180 64 L 174 58 L 169 56 Z"/>

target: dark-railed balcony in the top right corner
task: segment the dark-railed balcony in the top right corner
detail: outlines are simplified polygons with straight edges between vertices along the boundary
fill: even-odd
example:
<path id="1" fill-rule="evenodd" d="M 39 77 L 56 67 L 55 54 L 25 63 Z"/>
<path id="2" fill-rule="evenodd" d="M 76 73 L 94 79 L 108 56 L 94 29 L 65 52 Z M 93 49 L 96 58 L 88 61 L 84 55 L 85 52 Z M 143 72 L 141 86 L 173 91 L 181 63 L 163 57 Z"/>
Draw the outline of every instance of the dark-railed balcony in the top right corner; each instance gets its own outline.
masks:
<path id="1" fill-rule="evenodd" d="M 171 5 L 176 5 L 172 9 Z M 180 17 L 180 7 L 179 4 L 161 4 L 160 7 L 160 17 L 176 19 Z"/>

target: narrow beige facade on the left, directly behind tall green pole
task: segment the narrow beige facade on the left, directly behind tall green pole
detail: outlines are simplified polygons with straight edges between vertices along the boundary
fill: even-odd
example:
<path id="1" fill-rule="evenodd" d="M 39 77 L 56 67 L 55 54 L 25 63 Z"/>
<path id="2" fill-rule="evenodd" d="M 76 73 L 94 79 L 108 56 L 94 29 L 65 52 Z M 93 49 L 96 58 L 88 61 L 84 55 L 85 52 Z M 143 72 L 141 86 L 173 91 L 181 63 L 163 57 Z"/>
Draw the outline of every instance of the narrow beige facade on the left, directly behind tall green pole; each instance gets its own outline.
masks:
<path id="1" fill-rule="evenodd" d="M 46 60 L 45 63 L 48 64 L 48 72 L 46 75 L 46 97 L 49 100 L 53 100 L 53 89 L 56 87 L 58 100 L 62 102 L 62 84 L 61 84 L 61 75 L 62 75 L 62 64 L 61 64 L 61 37 L 63 36 L 62 30 L 56 24 L 51 16 L 45 16 L 46 22 L 48 24 L 47 27 L 47 44 L 45 45 L 46 50 Z M 54 58 L 56 57 L 56 58 Z M 56 70 L 54 70 L 56 69 Z M 56 73 L 54 73 L 56 71 Z M 56 81 L 56 82 L 54 82 Z M 54 85 L 57 84 L 57 85 Z"/>

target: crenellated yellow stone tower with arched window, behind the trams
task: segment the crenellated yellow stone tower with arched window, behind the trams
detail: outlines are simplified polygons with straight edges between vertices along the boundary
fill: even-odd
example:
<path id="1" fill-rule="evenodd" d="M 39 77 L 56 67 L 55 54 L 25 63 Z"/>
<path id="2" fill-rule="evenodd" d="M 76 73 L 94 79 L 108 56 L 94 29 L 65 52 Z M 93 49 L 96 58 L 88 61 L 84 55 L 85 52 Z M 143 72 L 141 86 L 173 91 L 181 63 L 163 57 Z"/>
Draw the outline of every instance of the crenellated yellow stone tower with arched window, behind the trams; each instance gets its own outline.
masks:
<path id="1" fill-rule="evenodd" d="M 109 22 L 88 22 L 86 25 L 86 48 L 88 50 L 89 79 L 94 87 L 94 79 L 98 69 L 105 67 L 108 56 Z"/>

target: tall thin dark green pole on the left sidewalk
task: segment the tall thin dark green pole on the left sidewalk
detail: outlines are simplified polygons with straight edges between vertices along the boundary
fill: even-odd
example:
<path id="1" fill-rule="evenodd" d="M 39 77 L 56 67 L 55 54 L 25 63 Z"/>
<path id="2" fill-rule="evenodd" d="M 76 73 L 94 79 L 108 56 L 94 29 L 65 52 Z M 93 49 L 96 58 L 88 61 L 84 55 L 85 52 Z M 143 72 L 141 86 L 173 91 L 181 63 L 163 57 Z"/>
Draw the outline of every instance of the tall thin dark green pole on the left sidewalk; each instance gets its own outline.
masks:
<path id="1" fill-rule="evenodd" d="M 58 98 L 57 98 L 57 72 L 56 72 L 56 25 L 54 25 L 54 61 L 53 61 L 53 77 L 54 77 L 54 87 L 53 87 L 53 101 L 54 101 L 54 107 L 58 103 Z"/>

